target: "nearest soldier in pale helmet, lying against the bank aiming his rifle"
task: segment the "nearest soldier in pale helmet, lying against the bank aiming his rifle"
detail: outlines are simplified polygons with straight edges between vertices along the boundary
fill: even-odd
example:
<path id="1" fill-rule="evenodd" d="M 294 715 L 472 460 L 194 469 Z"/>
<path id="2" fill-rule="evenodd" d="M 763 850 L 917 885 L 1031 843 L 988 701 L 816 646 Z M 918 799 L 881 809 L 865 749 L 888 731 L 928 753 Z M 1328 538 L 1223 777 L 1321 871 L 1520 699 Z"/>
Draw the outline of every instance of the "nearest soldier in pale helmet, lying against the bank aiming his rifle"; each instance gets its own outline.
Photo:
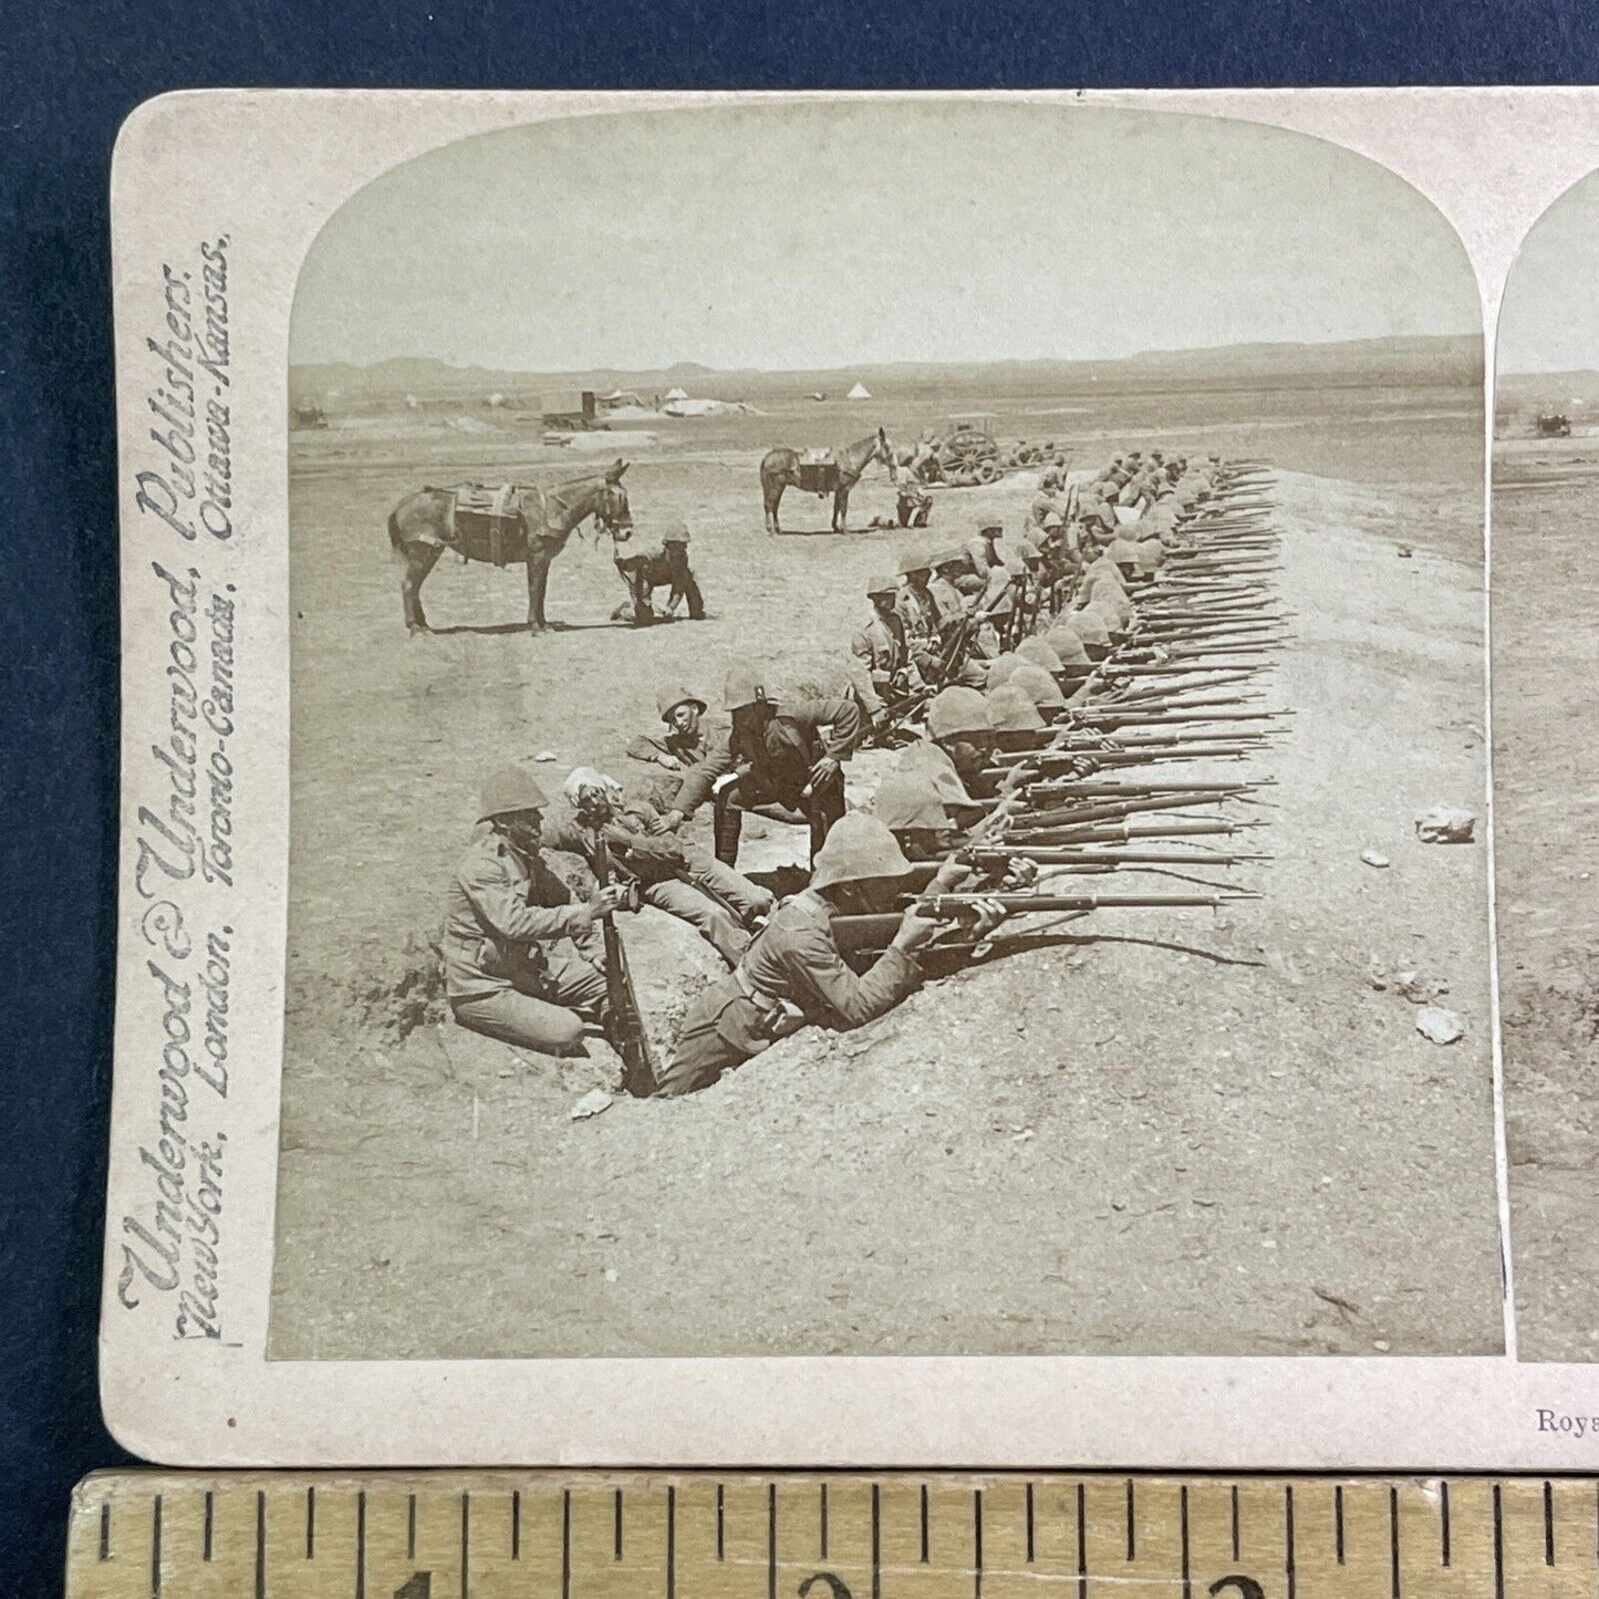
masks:
<path id="1" fill-rule="evenodd" d="M 657 1094 L 694 1094 L 724 1071 L 806 1025 L 865 1027 L 892 1011 L 919 982 L 919 950 L 939 923 L 915 905 L 863 975 L 844 964 L 836 915 L 891 911 L 911 867 L 894 835 L 870 815 L 846 815 L 815 855 L 811 886 L 784 900 L 732 975 L 689 1006 Z"/>

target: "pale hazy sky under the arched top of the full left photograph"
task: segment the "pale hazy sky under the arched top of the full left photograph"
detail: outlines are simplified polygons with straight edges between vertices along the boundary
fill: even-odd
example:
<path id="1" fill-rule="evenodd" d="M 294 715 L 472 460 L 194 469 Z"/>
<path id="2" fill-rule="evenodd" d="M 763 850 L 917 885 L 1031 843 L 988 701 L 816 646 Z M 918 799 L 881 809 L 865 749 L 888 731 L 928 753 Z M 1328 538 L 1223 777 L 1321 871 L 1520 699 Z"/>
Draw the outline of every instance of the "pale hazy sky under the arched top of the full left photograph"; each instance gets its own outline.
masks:
<path id="1" fill-rule="evenodd" d="M 1476 331 L 1450 227 L 1330 144 L 835 102 L 544 123 L 413 160 L 313 245 L 291 358 L 782 369 Z"/>

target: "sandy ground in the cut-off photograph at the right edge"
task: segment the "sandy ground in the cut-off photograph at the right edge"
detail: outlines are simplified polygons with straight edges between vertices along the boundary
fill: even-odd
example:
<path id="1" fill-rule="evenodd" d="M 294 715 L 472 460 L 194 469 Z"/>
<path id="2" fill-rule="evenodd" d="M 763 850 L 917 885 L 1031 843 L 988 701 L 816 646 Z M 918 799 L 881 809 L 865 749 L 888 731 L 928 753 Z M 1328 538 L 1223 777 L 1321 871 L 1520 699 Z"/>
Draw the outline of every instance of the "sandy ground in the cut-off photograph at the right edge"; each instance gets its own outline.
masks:
<path id="1" fill-rule="evenodd" d="M 1519 1353 L 1599 1358 L 1599 443 L 1505 443 L 1493 787 Z"/>

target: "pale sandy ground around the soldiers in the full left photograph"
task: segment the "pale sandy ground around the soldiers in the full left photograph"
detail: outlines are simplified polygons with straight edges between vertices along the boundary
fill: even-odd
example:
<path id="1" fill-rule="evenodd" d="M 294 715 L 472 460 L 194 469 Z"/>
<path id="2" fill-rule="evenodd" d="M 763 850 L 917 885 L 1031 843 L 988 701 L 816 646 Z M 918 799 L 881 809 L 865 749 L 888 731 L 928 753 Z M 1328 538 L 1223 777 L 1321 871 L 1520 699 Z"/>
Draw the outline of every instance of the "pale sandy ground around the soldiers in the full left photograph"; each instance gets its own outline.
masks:
<path id="1" fill-rule="evenodd" d="M 636 515 L 691 516 L 710 620 L 601 625 L 620 592 L 582 547 L 552 580 L 572 628 L 542 640 L 499 630 L 515 576 L 446 563 L 445 632 L 408 641 L 371 529 L 414 469 L 296 475 L 272 1354 L 1497 1351 L 1484 851 L 1412 833 L 1425 806 L 1482 809 L 1469 491 L 1281 477 L 1298 620 L 1270 691 L 1297 716 L 1255 760 L 1276 809 L 1244 812 L 1270 820 L 1247 847 L 1274 860 L 1241 870 L 1263 900 L 1099 913 L 582 1122 L 600 1052 L 400 1036 L 484 764 L 617 764 L 659 676 L 713 686 L 740 652 L 798 675 L 859 625 L 900 539 L 764 539 L 750 459 L 628 478 Z M 1028 492 L 940 499 L 934 534 L 1014 523 Z M 886 508 L 868 483 L 852 521 Z M 627 935 L 668 1030 L 713 959 L 654 913 Z M 1374 958 L 1447 983 L 1465 1041 L 1426 1043 Z"/>

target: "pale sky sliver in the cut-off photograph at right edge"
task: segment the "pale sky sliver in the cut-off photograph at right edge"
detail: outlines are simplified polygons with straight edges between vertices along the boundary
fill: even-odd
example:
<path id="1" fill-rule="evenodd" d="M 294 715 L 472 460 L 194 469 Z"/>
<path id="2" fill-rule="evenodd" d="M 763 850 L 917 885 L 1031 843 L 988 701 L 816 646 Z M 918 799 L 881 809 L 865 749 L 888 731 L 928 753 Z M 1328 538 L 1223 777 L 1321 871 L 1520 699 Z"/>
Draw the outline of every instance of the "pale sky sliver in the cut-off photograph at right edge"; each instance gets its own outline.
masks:
<path id="1" fill-rule="evenodd" d="M 1599 371 L 1599 173 L 1533 224 L 1500 301 L 1501 373 Z"/>

